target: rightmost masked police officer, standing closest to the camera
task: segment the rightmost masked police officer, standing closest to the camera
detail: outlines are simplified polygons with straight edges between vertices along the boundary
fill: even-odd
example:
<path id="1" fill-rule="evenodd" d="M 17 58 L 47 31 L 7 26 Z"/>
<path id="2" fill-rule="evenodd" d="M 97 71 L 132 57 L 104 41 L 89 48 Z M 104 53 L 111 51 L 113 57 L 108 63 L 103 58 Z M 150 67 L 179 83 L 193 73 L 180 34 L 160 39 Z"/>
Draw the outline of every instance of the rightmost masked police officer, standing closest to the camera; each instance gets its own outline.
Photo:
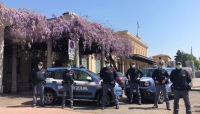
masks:
<path id="1" fill-rule="evenodd" d="M 180 61 L 176 63 L 176 69 L 171 72 L 170 80 L 173 83 L 174 114 L 178 114 L 178 103 L 180 96 L 183 97 L 183 100 L 185 102 L 186 114 L 192 114 L 188 94 L 188 91 L 191 89 L 191 87 L 189 86 L 191 79 L 188 72 L 182 69 L 182 64 Z"/>

